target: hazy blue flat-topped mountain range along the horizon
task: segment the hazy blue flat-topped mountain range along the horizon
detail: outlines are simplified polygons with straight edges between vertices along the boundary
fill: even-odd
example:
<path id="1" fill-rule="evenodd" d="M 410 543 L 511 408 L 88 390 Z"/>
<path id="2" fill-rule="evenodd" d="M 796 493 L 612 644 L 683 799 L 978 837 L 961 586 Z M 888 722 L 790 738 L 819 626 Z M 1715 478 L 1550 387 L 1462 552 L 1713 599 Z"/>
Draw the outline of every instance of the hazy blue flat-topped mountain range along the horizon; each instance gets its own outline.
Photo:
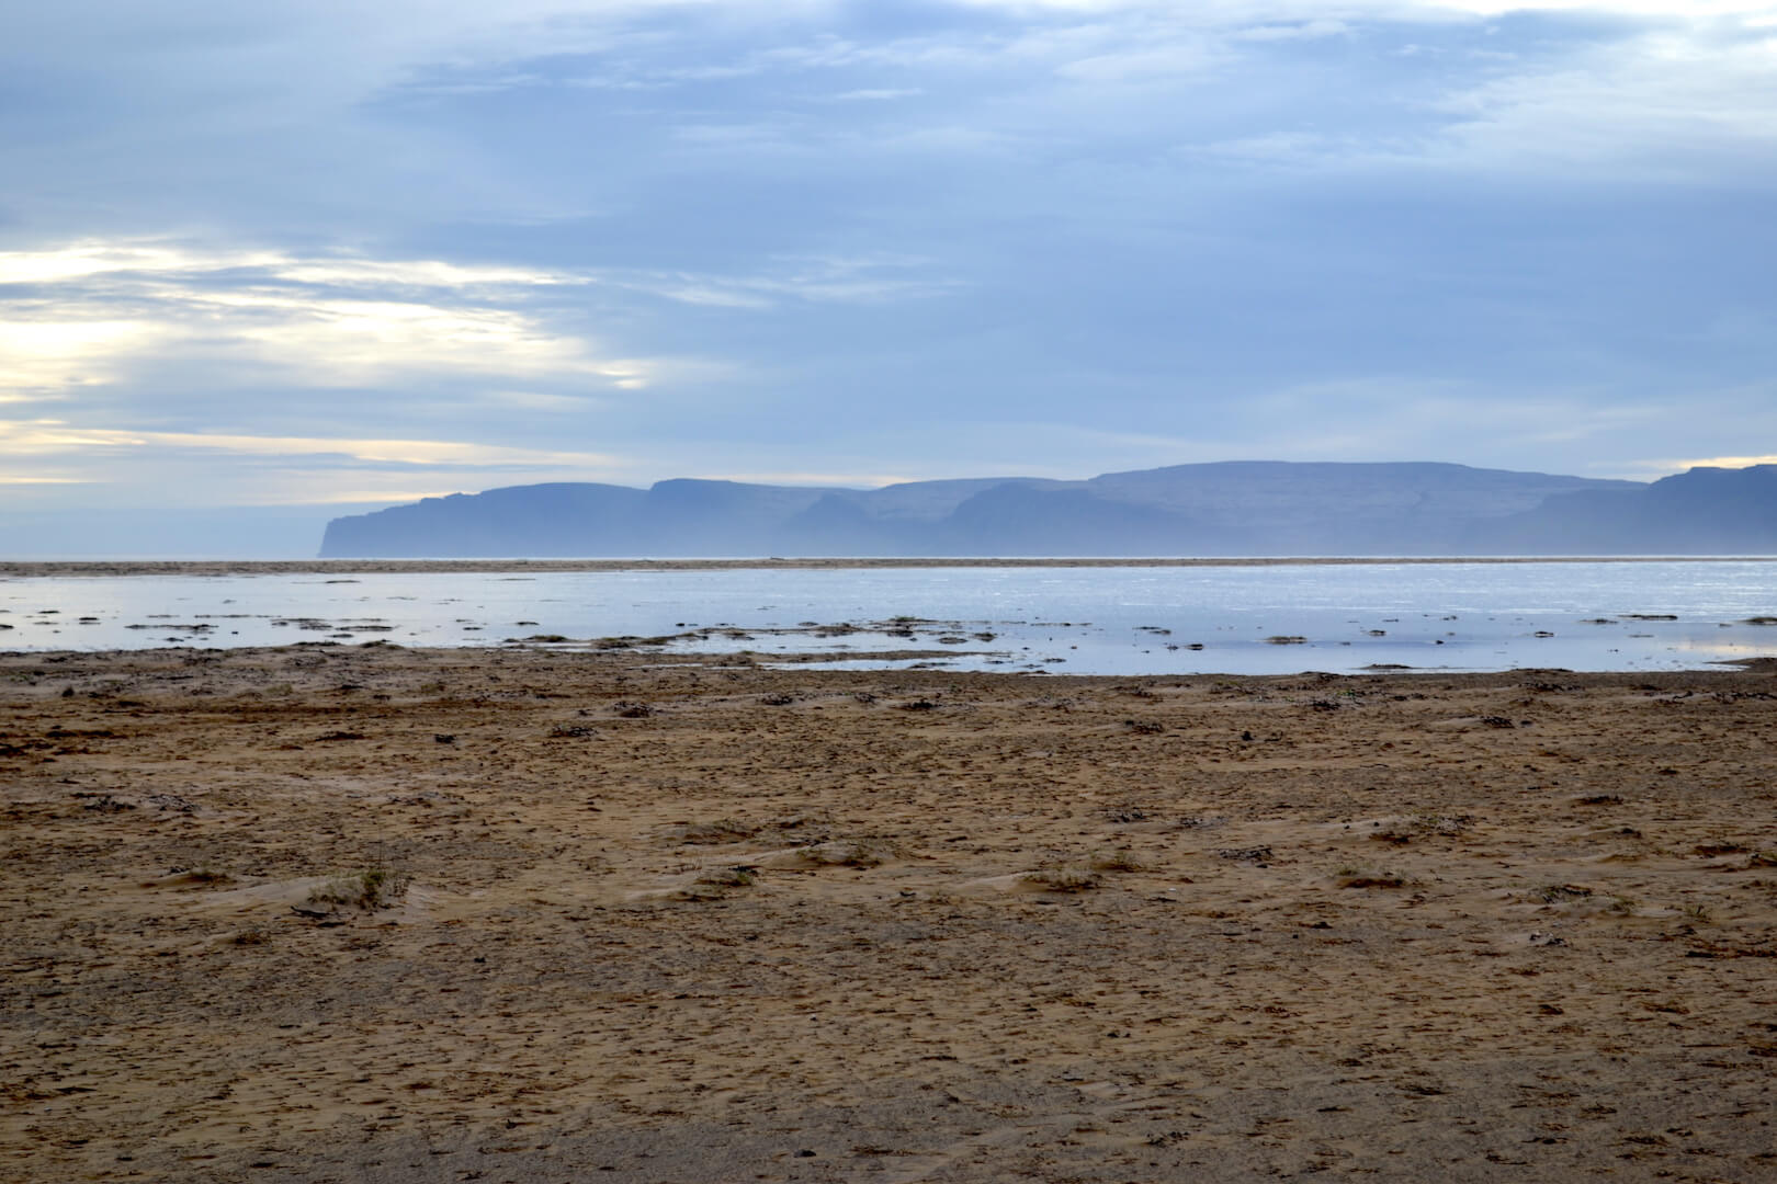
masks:
<path id="1" fill-rule="evenodd" d="M 1226 462 L 878 490 L 519 485 L 334 518 L 325 559 L 1761 554 L 1777 467 L 1644 485 L 1443 463 Z"/>

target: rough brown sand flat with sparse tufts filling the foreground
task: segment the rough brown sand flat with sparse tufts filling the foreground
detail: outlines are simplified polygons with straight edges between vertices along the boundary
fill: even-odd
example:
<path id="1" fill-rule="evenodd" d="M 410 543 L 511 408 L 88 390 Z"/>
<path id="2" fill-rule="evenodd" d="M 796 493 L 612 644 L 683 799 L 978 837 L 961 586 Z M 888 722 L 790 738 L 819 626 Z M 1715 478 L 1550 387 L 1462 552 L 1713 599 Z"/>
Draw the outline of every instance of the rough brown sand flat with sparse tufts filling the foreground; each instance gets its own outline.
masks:
<path id="1" fill-rule="evenodd" d="M 0 1179 L 1773 1179 L 1773 691 L 0 657 Z"/>

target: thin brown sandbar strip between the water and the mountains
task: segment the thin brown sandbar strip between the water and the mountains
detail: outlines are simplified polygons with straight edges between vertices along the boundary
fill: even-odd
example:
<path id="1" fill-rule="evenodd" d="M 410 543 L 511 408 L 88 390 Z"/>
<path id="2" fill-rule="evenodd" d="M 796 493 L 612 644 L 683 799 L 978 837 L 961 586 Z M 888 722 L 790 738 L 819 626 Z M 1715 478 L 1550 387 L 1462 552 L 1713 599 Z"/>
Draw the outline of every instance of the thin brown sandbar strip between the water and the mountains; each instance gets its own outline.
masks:
<path id="1" fill-rule="evenodd" d="M 0 579 L 123 575 L 448 575 L 453 572 L 821 572 L 892 568 L 1279 568 L 1534 563 L 1777 563 L 1777 556 L 1198 556 L 757 559 L 0 559 Z"/>

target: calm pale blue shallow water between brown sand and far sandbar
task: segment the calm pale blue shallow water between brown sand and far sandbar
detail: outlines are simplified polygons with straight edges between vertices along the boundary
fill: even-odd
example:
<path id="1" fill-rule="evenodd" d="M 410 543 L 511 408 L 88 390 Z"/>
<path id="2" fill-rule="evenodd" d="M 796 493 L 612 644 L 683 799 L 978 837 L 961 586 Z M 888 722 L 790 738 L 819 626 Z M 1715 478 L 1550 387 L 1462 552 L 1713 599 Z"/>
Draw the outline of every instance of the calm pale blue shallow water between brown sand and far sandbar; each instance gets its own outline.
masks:
<path id="1" fill-rule="evenodd" d="M 1777 618 L 1777 564 L 1756 561 L 0 579 L 9 650 L 503 646 L 720 627 L 668 650 L 924 650 L 917 660 L 951 669 L 1093 675 L 1693 669 L 1777 655 L 1777 625 L 1745 623 L 1759 616 Z M 841 623 L 860 632 L 809 628 Z"/>

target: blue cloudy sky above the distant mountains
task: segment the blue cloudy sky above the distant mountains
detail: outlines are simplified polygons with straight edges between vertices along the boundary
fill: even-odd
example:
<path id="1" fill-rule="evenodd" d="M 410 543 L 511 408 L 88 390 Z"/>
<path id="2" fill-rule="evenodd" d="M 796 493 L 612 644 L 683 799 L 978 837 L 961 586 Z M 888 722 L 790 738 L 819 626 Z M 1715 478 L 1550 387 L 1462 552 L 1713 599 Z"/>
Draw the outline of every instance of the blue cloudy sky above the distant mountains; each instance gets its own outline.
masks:
<path id="1" fill-rule="evenodd" d="M 12 515 L 1777 453 L 1773 2 L 11 4 L 0 179 Z"/>

